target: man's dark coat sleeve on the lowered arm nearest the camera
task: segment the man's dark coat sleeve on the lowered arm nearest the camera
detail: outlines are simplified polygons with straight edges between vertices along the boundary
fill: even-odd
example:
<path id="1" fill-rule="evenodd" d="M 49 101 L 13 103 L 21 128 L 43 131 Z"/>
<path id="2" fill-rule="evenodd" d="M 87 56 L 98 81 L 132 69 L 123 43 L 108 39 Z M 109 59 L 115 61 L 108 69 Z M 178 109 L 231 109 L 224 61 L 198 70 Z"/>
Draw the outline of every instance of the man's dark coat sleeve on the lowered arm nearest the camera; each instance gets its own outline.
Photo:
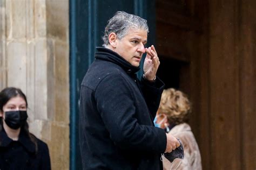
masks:
<path id="1" fill-rule="evenodd" d="M 165 131 L 138 123 L 134 96 L 128 84 L 121 75 L 112 74 L 105 77 L 96 89 L 97 109 L 110 138 L 123 149 L 164 153 Z"/>

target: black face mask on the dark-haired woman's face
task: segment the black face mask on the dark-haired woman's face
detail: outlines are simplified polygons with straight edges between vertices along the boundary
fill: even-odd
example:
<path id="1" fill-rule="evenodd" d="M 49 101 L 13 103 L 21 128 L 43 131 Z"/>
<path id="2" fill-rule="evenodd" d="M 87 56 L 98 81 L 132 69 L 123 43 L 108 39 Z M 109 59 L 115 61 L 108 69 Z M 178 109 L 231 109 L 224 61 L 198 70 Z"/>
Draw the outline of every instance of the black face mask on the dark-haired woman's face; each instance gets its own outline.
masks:
<path id="1" fill-rule="evenodd" d="M 25 124 L 27 118 L 28 114 L 26 114 L 26 111 L 6 111 L 4 122 L 11 129 L 19 129 Z"/>

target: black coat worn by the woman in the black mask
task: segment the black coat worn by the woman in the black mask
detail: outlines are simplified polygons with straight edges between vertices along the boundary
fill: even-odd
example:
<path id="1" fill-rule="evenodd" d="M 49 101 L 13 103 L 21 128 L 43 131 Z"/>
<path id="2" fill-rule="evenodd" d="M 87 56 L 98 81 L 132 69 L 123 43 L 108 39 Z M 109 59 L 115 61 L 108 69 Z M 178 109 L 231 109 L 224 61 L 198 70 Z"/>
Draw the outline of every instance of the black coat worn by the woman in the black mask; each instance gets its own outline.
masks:
<path id="1" fill-rule="evenodd" d="M 37 139 L 38 151 L 29 136 L 23 131 L 17 141 L 7 136 L 4 129 L 0 131 L 0 169 L 51 169 L 48 146 Z"/>

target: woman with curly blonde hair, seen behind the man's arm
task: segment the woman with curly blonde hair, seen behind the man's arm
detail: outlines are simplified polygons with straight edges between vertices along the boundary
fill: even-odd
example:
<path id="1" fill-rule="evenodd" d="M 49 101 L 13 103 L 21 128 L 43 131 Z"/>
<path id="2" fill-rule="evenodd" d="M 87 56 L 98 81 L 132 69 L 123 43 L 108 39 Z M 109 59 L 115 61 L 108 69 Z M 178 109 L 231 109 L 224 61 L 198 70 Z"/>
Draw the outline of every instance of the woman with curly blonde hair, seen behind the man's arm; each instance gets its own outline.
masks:
<path id="1" fill-rule="evenodd" d="M 156 126 L 163 128 L 167 133 L 181 140 L 184 147 L 184 159 L 175 159 L 171 164 L 167 159 L 163 160 L 164 169 L 202 169 L 201 156 L 197 141 L 191 131 L 188 115 L 191 114 L 191 103 L 188 97 L 181 91 L 169 88 L 164 90 L 158 114 L 155 120 Z M 181 161 L 181 162 L 180 162 Z"/>

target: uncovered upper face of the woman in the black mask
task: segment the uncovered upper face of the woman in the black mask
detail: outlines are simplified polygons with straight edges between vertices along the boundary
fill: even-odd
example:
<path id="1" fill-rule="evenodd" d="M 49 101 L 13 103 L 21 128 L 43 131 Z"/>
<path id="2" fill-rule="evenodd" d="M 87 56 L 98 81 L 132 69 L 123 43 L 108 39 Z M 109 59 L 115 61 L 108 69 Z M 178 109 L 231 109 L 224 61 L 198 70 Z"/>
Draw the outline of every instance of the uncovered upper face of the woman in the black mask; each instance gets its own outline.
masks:
<path id="1" fill-rule="evenodd" d="M 6 111 L 26 110 L 26 101 L 21 96 L 12 97 L 4 106 L 3 112 L 0 111 L 0 117 L 4 117 Z M 4 117 L 5 118 L 5 117 Z"/>

